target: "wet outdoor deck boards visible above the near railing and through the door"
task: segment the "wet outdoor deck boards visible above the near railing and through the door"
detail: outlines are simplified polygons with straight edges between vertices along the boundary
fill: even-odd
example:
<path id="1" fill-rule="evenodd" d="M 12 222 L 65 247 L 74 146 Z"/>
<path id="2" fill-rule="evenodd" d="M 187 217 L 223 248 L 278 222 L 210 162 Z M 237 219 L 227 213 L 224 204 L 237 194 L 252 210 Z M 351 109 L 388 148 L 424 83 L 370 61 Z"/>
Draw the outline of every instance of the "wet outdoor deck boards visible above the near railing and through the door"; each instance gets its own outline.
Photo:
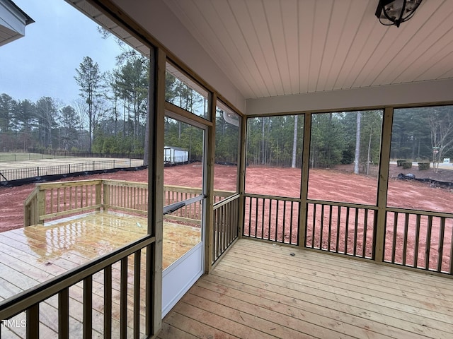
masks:
<path id="1" fill-rule="evenodd" d="M 0 233 L 0 300 L 147 233 L 147 219 L 89 213 Z M 164 222 L 164 269 L 200 242 L 200 229 Z"/>

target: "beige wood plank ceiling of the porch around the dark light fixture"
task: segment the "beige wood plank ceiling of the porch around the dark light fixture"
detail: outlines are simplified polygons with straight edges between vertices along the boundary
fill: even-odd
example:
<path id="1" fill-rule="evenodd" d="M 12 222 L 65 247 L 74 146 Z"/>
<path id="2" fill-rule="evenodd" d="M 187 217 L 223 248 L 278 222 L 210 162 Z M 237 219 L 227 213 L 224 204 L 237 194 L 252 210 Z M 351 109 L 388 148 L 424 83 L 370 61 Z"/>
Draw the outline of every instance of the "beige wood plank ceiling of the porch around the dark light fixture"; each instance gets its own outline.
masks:
<path id="1" fill-rule="evenodd" d="M 453 1 L 400 28 L 378 0 L 166 0 L 246 99 L 453 78 Z"/>

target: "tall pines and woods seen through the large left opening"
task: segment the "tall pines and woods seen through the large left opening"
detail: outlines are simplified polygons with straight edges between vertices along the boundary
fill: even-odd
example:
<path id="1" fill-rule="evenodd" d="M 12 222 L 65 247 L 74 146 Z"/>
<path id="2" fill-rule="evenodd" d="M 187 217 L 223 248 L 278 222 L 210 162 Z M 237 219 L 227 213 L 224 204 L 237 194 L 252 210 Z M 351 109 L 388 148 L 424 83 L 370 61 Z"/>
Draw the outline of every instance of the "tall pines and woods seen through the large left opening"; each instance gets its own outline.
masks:
<path id="1" fill-rule="evenodd" d="M 43 96 L 33 102 L 0 94 L 1 151 L 59 149 L 144 153 L 149 59 L 120 44 L 115 69 L 91 57 L 74 69 L 79 95 L 70 104 Z"/>

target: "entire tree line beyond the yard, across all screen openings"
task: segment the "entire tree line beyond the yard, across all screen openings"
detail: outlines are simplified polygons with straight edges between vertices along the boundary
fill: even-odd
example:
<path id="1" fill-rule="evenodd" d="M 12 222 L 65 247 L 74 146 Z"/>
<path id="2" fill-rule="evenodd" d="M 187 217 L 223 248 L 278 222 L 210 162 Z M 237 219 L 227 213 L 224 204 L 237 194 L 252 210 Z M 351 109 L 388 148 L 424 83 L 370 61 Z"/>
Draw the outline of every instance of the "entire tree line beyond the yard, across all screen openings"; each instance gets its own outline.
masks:
<path id="1" fill-rule="evenodd" d="M 119 42 L 120 44 L 120 42 Z M 28 148 L 93 153 L 146 153 L 149 58 L 122 44 L 115 69 L 101 72 L 84 57 L 74 69 L 79 95 L 67 105 L 52 97 L 18 100 L 0 94 L 0 151 Z M 166 101 L 207 117 L 207 95 L 166 73 Z M 239 121 L 225 119 L 217 107 L 216 161 L 237 162 Z M 227 121 L 229 120 L 229 121 Z M 247 120 L 249 165 L 302 167 L 304 119 L 298 115 Z M 166 118 L 167 146 L 202 155 L 203 135 L 196 127 Z M 311 167 L 355 163 L 365 172 L 379 162 L 382 110 L 311 114 Z M 442 162 L 453 157 L 451 106 L 395 109 L 391 158 Z M 145 156 L 146 157 L 146 156 Z"/>

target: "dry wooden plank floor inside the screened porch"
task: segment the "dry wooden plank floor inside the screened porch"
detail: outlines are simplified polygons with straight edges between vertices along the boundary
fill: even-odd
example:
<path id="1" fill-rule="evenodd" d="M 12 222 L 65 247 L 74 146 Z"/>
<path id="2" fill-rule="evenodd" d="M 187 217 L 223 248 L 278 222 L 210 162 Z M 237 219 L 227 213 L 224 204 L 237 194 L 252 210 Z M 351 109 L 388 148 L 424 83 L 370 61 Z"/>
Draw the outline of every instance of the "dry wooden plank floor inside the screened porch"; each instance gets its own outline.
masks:
<path id="1" fill-rule="evenodd" d="M 453 338 L 453 279 L 241 239 L 159 338 Z"/>

